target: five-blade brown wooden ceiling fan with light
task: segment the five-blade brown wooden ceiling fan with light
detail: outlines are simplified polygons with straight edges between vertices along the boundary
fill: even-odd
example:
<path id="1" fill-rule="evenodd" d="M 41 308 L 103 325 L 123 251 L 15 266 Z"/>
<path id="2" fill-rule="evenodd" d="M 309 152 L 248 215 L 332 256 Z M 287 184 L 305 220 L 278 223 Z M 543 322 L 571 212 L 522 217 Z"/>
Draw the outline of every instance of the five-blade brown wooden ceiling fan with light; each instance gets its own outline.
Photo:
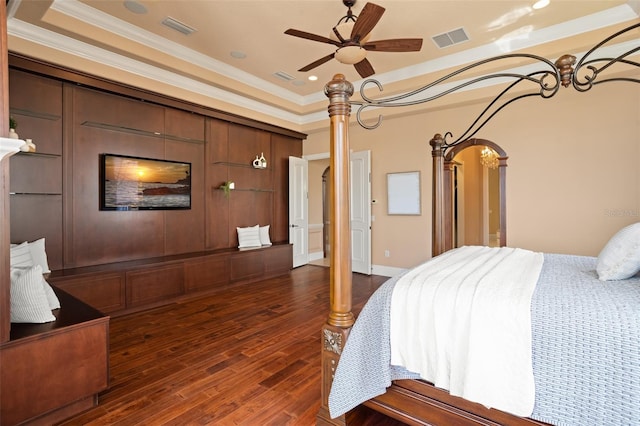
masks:
<path id="1" fill-rule="evenodd" d="M 288 29 L 284 32 L 294 37 L 328 43 L 337 47 L 334 53 L 320 58 L 300 68 L 298 71 L 312 70 L 335 58 L 343 64 L 353 65 L 362 78 L 367 78 L 375 73 L 373 66 L 367 60 L 367 51 L 417 52 L 422 48 L 421 38 L 369 41 L 369 33 L 382 17 L 385 8 L 373 3 L 367 3 L 362 8 L 360 16 L 356 16 L 351 11 L 351 7 L 356 3 L 356 0 L 343 0 L 342 3 L 348 8 L 347 14 L 333 27 L 329 37 L 294 29 Z"/>

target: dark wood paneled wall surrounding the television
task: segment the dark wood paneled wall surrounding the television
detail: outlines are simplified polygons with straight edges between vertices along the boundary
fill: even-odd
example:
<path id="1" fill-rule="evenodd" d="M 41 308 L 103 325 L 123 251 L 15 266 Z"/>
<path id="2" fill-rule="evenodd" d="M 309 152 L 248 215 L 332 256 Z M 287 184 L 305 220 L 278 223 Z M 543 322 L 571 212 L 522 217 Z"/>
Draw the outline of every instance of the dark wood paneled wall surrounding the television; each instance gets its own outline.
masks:
<path id="1" fill-rule="evenodd" d="M 288 157 L 302 155 L 304 135 L 52 74 L 10 74 L 18 133 L 37 146 L 11 160 L 12 242 L 45 237 L 57 270 L 236 247 L 236 227 L 256 224 L 271 225 L 273 242 L 288 240 Z M 103 153 L 190 162 L 191 209 L 100 211 Z M 261 154 L 267 168 L 255 169 Z M 236 189 L 227 197 L 219 187 L 228 180 Z"/>

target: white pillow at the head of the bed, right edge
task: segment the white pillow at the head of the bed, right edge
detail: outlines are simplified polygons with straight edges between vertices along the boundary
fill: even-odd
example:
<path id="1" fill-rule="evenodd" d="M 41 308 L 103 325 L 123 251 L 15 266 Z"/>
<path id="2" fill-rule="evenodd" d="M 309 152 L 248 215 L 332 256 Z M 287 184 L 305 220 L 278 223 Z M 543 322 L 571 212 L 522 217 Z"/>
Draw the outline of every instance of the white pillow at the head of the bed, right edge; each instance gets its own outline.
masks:
<path id="1" fill-rule="evenodd" d="M 624 280 L 640 271 L 640 222 L 618 231 L 598 255 L 601 281 Z"/>

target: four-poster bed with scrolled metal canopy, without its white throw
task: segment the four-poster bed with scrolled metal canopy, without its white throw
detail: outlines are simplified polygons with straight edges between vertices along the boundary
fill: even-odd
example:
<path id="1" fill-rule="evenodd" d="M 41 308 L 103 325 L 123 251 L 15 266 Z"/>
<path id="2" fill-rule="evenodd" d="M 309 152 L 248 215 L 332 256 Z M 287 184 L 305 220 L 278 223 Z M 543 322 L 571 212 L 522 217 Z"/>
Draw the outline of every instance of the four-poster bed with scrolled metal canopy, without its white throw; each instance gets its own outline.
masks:
<path id="1" fill-rule="evenodd" d="M 640 259 L 634 257 L 631 262 L 633 273 L 624 280 L 603 281 L 599 276 L 599 265 L 604 263 L 600 256 L 604 252 L 615 251 L 606 248 L 619 243 L 622 238 L 619 234 L 630 238 L 631 242 L 627 241 L 626 247 L 631 244 L 632 248 L 635 247 L 631 252 L 638 256 L 637 232 L 640 225 L 616 234 L 598 258 L 539 254 L 543 261 L 535 276 L 529 299 L 531 309 L 528 310 L 535 396 L 532 411 L 526 415 L 511 408 L 502 410 L 495 405 L 489 408 L 486 403 L 452 395 L 417 373 L 392 366 L 391 352 L 395 349 L 391 349 L 389 343 L 391 338 L 387 331 L 393 325 L 388 312 L 392 309 L 394 289 L 404 277 L 394 277 L 382 286 L 356 322 L 351 312 L 350 240 L 349 232 L 345 232 L 349 229 L 348 122 L 352 106 L 358 108 L 358 123 L 375 129 L 381 121 L 366 123 L 362 112 L 367 108 L 429 102 L 493 78 L 510 81 L 457 139 L 450 140 L 451 134 L 437 134 L 431 140 L 432 254 L 434 259 L 449 256 L 459 250 L 454 249 L 451 238 L 451 182 L 447 172 L 447 163 L 452 158 L 450 153 L 456 147 L 478 143 L 475 139 L 478 131 L 495 114 L 519 99 L 529 96 L 551 98 L 561 87 L 588 91 L 596 84 L 609 81 L 640 83 L 640 79 L 635 77 L 640 64 L 631 60 L 632 55 L 640 51 L 637 35 L 631 39 L 630 48 L 625 53 L 613 57 L 602 53 L 598 57 L 604 46 L 618 37 L 627 37 L 628 40 L 629 34 L 636 34 L 638 27 L 640 24 L 635 24 L 613 34 L 579 61 L 572 55 L 564 55 L 555 62 L 535 55 L 503 55 L 467 66 L 415 91 L 385 99 L 371 99 L 366 95 L 367 85 L 381 88 L 375 80 L 362 84 L 361 101 L 350 100 L 353 86 L 343 76 L 336 75 L 327 84 L 325 93 L 330 100 L 331 122 L 330 168 L 334 182 L 331 219 L 335 226 L 331 234 L 330 312 L 322 329 L 323 385 L 318 424 L 349 424 L 349 413 L 357 410 L 358 406 L 369 407 L 407 424 L 640 424 L 640 350 L 637 346 L 640 341 L 640 278 L 635 275 L 640 267 L 633 272 L 633 262 L 640 262 Z M 478 67 L 523 58 L 539 67 L 527 67 L 521 73 L 477 77 Z M 607 77 L 607 71 L 616 64 L 636 71 L 632 76 L 613 73 Z M 467 72 L 475 73 L 475 76 L 463 78 Z M 523 88 L 524 85 L 530 88 Z M 424 94 L 422 98 L 421 94 Z M 500 158 L 502 173 L 505 160 Z M 504 223 L 501 221 L 502 227 Z M 506 229 L 501 231 L 500 246 L 505 246 Z M 614 258 L 619 258 L 619 252 L 616 253 Z M 411 273 L 413 270 L 407 274 Z M 576 293 L 581 294 L 583 300 L 572 301 L 571 309 L 567 309 L 568 294 Z M 584 330 L 579 330 L 579 324 L 586 324 L 587 320 L 588 333 L 594 334 L 586 331 L 584 334 Z M 589 340 L 598 342 L 597 350 L 585 346 Z M 618 362 L 622 359 L 624 363 Z M 568 364 L 575 368 L 567 369 Z M 491 386 L 486 389 L 491 389 Z"/>

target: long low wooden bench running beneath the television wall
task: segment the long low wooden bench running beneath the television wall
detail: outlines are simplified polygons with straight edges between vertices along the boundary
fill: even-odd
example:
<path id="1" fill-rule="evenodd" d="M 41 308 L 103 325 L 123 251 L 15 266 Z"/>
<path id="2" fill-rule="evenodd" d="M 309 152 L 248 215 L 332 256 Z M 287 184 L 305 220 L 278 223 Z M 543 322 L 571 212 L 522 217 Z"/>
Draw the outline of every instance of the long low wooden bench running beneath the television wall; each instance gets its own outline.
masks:
<path id="1" fill-rule="evenodd" d="M 48 281 L 111 316 L 288 273 L 292 245 L 222 249 L 53 271 Z"/>

